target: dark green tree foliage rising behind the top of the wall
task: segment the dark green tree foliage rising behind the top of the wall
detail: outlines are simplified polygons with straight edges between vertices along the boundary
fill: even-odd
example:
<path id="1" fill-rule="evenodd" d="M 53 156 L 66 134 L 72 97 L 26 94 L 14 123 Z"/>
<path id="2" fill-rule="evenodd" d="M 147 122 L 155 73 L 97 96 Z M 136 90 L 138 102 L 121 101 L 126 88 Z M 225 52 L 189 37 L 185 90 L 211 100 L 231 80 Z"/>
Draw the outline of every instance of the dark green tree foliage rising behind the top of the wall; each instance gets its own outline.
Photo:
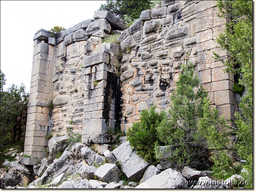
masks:
<path id="1" fill-rule="evenodd" d="M 151 1 L 128 1 L 128 0 L 108 0 L 106 4 L 101 4 L 99 11 L 108 11 L 121 19 L 129 16 L 132 19 L 140 18 L 140 13 L 150 9 Z M 128 22 L 128 21 L 127 21 Z"/>

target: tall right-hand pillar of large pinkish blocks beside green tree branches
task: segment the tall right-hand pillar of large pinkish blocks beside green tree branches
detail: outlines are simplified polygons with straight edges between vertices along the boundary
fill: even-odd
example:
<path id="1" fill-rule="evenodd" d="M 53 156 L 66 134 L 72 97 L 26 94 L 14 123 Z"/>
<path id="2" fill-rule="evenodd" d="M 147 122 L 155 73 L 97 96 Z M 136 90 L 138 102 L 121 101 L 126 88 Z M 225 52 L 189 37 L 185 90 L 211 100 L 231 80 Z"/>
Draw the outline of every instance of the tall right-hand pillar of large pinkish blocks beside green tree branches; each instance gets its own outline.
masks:
<path id="1" fill-rule="evenodd" d="M 217 43 L 217 37 L 228 22 L 217 16 L 215 1 L 200 1 L 196 4 L 196 43 L 198 75 L 201 84 L 208 91 L 210 103 L 218 108 L 219 115 L 234 119 L 237 110 L 233 84 L 234 75 L 225 73 L 222 61 L 214 60 L 213 53 L 227 56 Z"/>

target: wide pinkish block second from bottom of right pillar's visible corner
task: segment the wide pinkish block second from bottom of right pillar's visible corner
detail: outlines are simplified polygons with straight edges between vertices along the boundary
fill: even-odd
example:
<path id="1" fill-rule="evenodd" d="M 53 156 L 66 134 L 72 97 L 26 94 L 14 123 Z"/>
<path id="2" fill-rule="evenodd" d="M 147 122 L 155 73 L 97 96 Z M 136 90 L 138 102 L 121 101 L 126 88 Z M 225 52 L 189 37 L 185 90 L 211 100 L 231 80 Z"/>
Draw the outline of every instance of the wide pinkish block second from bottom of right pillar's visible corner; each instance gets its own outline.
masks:
<path id="1" fill-rule="evenodd" d="M 236 105 L 236 96 L 231 90 L 215 91 L 214 92 L 215 105 L 232 104 Z"/>

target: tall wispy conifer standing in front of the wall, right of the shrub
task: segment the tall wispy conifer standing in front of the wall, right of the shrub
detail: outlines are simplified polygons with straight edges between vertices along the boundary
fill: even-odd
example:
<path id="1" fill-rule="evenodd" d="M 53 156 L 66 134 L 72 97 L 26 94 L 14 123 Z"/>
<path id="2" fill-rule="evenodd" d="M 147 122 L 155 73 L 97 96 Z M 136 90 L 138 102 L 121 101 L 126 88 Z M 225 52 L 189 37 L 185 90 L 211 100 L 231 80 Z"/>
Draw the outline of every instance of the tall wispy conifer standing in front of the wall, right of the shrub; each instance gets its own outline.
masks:
<path id="1" fill-rule="evenodd" d="M 173 146 L 168 159 L 172 167 L 193 166 L 192 160 L 202 158 L 206 152 L 205 141 L 197 133 L 198 119 L 203 116 L 207 92 L 199 86 L 192 64 L 183 66 L 177 87 L 171 95 L 170 119 L 165 118 L 157 127 L 159 140 Z"/>

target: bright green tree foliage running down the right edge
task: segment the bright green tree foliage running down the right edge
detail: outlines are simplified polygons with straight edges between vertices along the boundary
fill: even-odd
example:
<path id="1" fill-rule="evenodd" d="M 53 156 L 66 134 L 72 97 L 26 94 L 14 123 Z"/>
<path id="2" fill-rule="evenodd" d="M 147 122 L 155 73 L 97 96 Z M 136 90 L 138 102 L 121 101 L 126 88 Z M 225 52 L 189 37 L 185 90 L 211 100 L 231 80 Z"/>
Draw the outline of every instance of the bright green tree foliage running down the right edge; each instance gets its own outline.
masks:
<path id="1" fill-rule="evenodd" d="M 228 51 L 226 72 L 238 75 L 238 85 L 245 88 L 244 95 L 235 113 L 235 143 L 232 150 L 247 161 L 243 167 L 244 178 L 251 181 L 252 187 L 252 1 L 218 1 L 219 16 L 229 18 L 224 33 L 217 39 Z M 216 60 L 222 60 L 215 54 Z M 216 148 L 217 145 L 214 145 Z M 229 167 L 229 164 L 223 164 Z"/>

